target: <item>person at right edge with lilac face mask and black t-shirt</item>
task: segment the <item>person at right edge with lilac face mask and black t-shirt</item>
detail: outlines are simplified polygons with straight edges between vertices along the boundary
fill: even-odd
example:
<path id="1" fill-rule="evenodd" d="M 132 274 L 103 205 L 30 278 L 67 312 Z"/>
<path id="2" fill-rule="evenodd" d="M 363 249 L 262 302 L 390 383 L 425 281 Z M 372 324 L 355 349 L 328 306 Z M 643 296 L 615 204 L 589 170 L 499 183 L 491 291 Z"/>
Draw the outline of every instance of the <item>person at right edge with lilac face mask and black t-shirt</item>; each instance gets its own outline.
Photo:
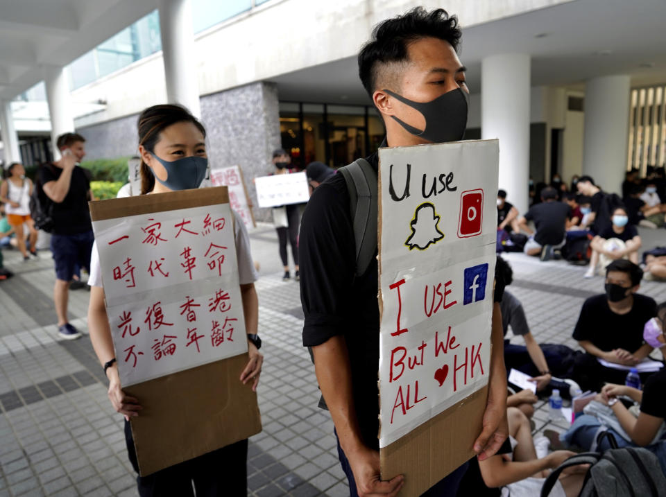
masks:
<path id="1" fill-rule="evenodd" d="M 643 338 L 650 348 L 659 349 L 666 358 L 666 302 L 659 304 L 656 316 L 649 320 L 643 329 Z M 604 385 L 595 401 L 610 407 L 624 433 L 618 433 L 614 428 L 607 428 L 613 433 L 618 446 L 641 446 L 656 454 L 661 468 L 666 473 L 666 434 L 664 421 L 666 420 L 666 403 L 664 391 L 666 390 L 666 367 L 652 374 L 644 383 L 643 390 L 623 384 L 608 383 Z M 629 397 L 640 404 L 638 417 L 629 412 L 629 409 L 620 402 L 620 397 Z M 568 444 L 575 444 L 590 450 L 596 442 L 597 433 L 602 429 L 601 422 L 594 416 L 579 416 L 572 427 L 561 436 Z M 629 439 L 628 439 L 629 438 Z M 608 439 L 603 439 L 599 446 L 600 451 L 610 448 Z"/>

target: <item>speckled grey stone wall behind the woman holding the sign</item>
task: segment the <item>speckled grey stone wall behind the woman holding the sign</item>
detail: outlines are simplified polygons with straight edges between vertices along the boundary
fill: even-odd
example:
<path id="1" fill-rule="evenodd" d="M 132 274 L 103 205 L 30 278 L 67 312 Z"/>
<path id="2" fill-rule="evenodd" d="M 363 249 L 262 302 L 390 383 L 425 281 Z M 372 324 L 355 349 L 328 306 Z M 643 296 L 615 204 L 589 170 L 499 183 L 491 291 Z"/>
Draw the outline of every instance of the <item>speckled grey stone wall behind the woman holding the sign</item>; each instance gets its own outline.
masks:
<path id="1" fill-rule="evenodd" d="M 111 159 L 137 153 L 137 117 L 85 126 L 86 159 Z M 278 88 L 256 82 L 201 97 L 201 121 L 207 132 L 211 168 L 241 167 L 255 218 L 270 220 L 271 209 L 259 209 L 253 178 L 271 171 L 271 155 L 280 147 Z"/>

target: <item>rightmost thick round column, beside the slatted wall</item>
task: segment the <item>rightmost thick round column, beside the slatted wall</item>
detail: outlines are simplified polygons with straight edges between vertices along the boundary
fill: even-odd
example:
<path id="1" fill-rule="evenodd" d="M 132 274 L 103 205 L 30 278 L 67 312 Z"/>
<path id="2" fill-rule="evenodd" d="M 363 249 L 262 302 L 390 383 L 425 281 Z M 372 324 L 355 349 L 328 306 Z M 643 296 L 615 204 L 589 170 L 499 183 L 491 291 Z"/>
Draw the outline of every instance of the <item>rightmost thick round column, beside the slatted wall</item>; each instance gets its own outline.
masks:
<path id="1" fill-rule="evenodd" d="M 629 146 L 629 76 L 589 80 L 585 88 L 583 174 L 609 192 L 622 192 Z"/>

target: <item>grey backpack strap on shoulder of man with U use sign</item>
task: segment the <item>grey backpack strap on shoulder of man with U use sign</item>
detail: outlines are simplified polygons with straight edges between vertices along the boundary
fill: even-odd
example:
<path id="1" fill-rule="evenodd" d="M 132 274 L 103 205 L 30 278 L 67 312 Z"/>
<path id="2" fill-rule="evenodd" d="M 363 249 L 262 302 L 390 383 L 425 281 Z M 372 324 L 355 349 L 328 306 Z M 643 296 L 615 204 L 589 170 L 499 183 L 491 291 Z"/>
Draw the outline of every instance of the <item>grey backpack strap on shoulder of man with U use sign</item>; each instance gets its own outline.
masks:
<path id="1" fill-rule="evenodd" d="M 356 243 L 356 275 L 368 270 L 377 251 L 377 173 L 366 159 L 357 159 L 339 170 L 350 198 Z"/>

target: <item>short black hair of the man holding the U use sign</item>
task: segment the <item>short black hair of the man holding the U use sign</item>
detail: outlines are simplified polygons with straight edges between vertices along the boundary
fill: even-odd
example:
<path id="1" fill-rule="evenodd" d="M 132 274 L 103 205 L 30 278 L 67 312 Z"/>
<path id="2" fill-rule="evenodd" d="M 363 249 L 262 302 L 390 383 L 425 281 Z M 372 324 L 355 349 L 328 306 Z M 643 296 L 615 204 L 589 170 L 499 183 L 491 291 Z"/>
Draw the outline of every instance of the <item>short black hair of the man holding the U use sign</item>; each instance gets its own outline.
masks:
<path id="1" fill-rule="evenodd" d="M 461 37 L 458 18 L 448 15 L 443 8 L 428 12 L 425 8 L 416 7 L 375 26 L 370 41 L 359 53 L 359 78 L 370 98 L 377 89 L 377 76 L 382 67 L 407 62 L 409 44 L 427 37 L 449 42 L 457 52 Z M 399 88 L 393 90 L 398 91 Z"/>

